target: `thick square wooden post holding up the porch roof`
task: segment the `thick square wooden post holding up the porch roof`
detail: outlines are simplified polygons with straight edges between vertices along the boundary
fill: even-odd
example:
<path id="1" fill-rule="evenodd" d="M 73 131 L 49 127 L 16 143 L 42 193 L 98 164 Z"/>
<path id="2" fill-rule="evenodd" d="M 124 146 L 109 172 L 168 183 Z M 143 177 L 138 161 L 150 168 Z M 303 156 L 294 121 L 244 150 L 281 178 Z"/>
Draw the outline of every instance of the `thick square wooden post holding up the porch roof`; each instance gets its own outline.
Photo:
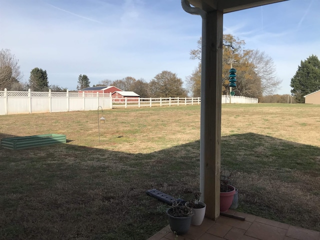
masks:
<path id="1" fill-rule="evenodd" d="M 220 214 L 222 28 L 222 11 L 202 17 L 200 191 L 211 219 Z"/>

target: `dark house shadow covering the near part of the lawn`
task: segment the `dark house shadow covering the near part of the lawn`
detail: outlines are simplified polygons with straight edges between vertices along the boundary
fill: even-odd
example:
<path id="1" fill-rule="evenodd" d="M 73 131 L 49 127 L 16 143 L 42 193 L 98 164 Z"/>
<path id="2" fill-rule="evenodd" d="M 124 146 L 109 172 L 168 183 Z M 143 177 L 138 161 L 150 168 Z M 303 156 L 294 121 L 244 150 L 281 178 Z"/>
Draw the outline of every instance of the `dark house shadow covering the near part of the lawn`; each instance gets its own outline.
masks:
<path id="1" fill-rule="evenodd" d="M 255 133 L 221 140 L 239 210 L 320 230 L 319 147 Z M 1 148 L 0 158 L 1 239 L 146 239 L 167 224 L 167 206 L 145 190 L 183 197 L 199 186 L 199 140 L 146 154 Z"/>

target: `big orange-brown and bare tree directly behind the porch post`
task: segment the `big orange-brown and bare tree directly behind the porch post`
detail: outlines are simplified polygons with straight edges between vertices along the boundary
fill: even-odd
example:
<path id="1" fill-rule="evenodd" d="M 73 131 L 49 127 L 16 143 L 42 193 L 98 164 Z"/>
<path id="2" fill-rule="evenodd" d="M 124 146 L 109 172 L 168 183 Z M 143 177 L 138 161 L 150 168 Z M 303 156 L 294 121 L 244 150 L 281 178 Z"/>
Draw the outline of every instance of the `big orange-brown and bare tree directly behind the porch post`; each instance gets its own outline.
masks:
<path id="1" fill-rule="evenodd" d="M 229 94 L 229 69 L 236 68 L 236 95 L 259 97 L 272 94 L 281 80 L 276 77 L 275 66 L 270 56 L 259 50 L 244 49 L 245 42 L 231 34 L 223 35 L 222 94 Z M 201 38 L 197 49 L 190 51 L 191 59 L 201 59 Z M 199 95 L 201 84 L 201 62 L 187 77 L 188 89 L 193 96 Z"/>

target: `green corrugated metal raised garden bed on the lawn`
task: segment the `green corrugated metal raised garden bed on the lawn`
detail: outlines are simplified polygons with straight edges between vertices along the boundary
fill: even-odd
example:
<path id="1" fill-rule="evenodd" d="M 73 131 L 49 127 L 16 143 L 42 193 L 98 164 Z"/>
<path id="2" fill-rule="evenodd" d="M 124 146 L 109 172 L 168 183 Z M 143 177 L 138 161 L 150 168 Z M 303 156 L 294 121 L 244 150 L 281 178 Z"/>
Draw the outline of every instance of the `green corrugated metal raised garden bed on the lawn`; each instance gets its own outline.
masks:
<path id="1" fill-rule="evenodd" d="M 34 136 L 18 136 L 1 139 L 1 146 L 9 149 L 22 149 L 35 146 L 65 143 L 66 137 L 62 134 L 43 134 Z"/>

